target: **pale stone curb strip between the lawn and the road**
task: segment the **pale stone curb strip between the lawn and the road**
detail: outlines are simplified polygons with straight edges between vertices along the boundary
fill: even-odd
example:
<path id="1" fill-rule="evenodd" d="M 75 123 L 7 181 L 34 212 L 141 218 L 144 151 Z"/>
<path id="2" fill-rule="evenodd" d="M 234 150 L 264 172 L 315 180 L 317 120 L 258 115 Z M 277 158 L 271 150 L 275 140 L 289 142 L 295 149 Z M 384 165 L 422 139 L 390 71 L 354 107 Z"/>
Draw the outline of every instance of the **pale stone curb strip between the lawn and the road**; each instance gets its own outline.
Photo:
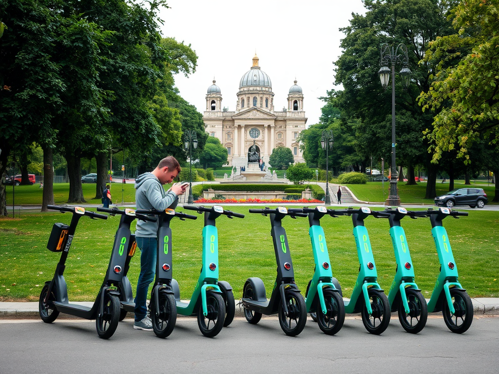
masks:
<path id="1" fill-rule="evenodd" d="M 344 299 L 348 301 L 349 299 Z M 499 298 L 472 298 L 474 316 L 489 315 L 498 316 L 499 315 Z M 429 301 L 429 299 L 427 299 Z M 74 304 L 86 305 L 88 307 L 92 306 L 92 302 L 75 302 Z M 236 300 L 236 317 L 244 317 L 242 308 L 239 307 L 239 300 Z M 430 315 L 442 315 L 441 312 L 430 313 Z M 129 313 L 128 317 L 132 314 Z M 38 315 L 38 303 L 24 303 L 24 302 L 3 302 L 0 303 L 0 320 L 12 320 L 12 319 L 39 319 Z M 59 319 L 75 319 L 77 317 L 69 316 L 67 314 L 60 314 Z"/>

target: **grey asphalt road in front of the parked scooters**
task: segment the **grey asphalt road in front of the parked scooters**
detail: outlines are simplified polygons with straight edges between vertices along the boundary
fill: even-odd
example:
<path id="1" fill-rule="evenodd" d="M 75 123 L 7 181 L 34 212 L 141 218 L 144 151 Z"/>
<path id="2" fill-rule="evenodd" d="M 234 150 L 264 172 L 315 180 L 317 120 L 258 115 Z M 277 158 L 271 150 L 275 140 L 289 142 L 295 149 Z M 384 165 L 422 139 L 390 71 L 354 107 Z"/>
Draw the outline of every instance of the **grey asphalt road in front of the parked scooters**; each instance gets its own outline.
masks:
<path id="1" fill-rule="evenodd" d="M 250 325 L 236 318 L 216 338 L 201 335 L 195 318 L 179 318 L 172 335 L 120 322 L 109 340 L 93 321 L 0 320 L 0 373 L 498 373 L 499 317 L 475 318 L 465 334 L 451 333 L 441 315 L 406 333 L 396 315 L 380 336 L 360 317 L 347 317 L 336 336 L 309 318 L 287 337 L 277 318 Z"/>

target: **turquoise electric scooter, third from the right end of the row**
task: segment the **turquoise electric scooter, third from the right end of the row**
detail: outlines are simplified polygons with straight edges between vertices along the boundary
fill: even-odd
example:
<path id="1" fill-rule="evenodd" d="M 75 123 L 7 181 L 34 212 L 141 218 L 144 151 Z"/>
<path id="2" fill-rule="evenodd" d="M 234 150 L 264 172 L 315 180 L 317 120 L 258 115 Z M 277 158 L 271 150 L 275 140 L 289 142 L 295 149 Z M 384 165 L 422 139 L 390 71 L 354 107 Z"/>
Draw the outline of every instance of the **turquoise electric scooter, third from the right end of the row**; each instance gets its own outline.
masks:
<path id="1" fill-rule="evenodd" d="M 352 291 L 350 301 L 345 301 L 345 313 L 361 313 L 362 323 L 368 332 L 379 335 L 390 323 L 390 304 L 379 286 L 378 273 L 374 263 L 369 234 L 364 226 L 364 219 L 371 215 L 371 209 L 338 209 L 332 210 L 332 216 L 351 215 L 353 235 L 359 257 L 359 274 Z M 341 290 L 341 289 L 340 289 Z M 341 294 L 340 291 L 340 295 Z"/>

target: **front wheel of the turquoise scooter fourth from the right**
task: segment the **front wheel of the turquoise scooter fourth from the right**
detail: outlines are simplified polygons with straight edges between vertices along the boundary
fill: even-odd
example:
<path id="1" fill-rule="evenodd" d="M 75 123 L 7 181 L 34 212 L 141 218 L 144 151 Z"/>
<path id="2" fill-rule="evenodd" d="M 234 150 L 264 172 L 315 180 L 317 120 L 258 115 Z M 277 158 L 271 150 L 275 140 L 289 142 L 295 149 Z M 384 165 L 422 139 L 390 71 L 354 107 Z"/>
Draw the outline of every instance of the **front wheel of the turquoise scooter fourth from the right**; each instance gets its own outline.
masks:
<path id="1" fill-rule="evenodd" d="M 317 301 L 317 323 L 324 334 L 334 335 L 343 327 L 345 322 L 345 305 L 338 292 L 331 289 L 324 290 L 326 313 L 322 313 L 320 301 Z"/>

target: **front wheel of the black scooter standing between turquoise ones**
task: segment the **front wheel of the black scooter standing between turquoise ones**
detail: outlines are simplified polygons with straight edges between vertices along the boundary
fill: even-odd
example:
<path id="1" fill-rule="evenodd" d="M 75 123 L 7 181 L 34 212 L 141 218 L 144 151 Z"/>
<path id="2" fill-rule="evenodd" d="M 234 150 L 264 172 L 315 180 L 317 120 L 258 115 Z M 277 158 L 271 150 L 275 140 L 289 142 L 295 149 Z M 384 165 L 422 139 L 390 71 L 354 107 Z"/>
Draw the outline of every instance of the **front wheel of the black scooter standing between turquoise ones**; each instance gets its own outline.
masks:
<path id="1" fill-rule="evenodd" d="M 297 291 L 287 291 L 284 297 L 288 314 L 286 316 L 282 302 L 279 303 L 279 325 L 287 336 L 296 336 L 302 332 L 307 322 L 305 300 Z"/>

